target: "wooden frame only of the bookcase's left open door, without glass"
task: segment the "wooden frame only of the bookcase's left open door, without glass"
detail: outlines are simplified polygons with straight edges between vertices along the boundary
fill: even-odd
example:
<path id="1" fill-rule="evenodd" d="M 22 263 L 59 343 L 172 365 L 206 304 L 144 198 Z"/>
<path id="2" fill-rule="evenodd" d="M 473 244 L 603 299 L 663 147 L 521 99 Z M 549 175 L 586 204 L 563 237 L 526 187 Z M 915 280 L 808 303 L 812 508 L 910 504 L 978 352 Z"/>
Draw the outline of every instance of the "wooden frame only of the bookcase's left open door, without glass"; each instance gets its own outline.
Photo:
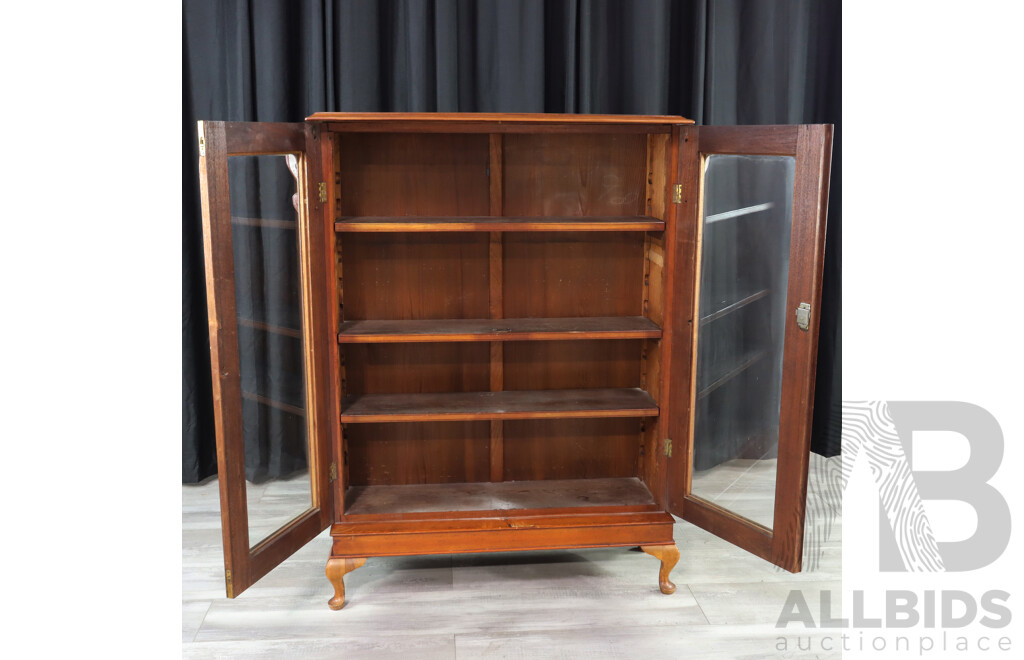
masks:
<path id="1" fill-rule="evenodd" d="M 199 122 L 200 190 L 210 322 L 217 472 L 227 598 L 234 598 L 330 525 L 328 315 L 323 248 L 327 240 L 317 184 L 319 131 L 305 123 Z M 309 439 L 311 505 L 276 532 L 250 547 L 246 503 L 242 379 L 234 301 L 234 263 L 227 159 L 232 156 L 299 157 L 301 192 L 298 219 L 299 268 L 303 314 L 306 434 Z"/>

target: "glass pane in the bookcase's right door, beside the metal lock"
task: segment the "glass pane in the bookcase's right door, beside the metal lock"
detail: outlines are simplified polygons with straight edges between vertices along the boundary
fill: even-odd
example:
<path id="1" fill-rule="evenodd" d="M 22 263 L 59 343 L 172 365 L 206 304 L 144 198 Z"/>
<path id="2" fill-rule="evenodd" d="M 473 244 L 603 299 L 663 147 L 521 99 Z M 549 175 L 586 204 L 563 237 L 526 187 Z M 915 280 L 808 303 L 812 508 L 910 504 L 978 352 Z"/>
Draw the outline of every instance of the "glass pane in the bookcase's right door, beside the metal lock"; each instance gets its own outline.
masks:
<path id="1" fill-rule="evenodd" d="M 690 492 L 771 528 L 796 159 L 710 156 Z"/>

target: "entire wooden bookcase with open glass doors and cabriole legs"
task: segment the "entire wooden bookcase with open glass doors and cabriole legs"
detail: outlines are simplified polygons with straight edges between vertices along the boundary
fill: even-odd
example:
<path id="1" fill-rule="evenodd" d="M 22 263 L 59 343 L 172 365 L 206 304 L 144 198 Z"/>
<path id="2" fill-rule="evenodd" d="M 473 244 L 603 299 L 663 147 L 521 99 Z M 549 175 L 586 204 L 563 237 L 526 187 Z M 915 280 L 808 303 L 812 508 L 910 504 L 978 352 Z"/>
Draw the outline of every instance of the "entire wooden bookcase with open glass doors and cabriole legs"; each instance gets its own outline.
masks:
<path id="1" fill-rule="evenodd" d="M 228 598 L 327 527 L 333 609 L 400 555 L 639 545 L 671 593 L 672 514 L 800 570 L 830 127 L 199 131 Z"/>

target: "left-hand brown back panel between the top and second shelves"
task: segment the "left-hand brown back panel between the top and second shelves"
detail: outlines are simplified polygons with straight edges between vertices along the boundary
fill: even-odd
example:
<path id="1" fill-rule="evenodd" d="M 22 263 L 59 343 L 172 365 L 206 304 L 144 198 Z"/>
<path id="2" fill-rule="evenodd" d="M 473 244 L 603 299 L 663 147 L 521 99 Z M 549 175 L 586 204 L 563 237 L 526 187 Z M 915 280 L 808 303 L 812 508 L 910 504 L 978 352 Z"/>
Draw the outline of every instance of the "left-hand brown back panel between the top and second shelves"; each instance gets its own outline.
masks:
<path id="1" fill-rule="evenodd" d="M 352 233 L 339 239 L 344 317 L 486 318 L 486 233 Z"/>

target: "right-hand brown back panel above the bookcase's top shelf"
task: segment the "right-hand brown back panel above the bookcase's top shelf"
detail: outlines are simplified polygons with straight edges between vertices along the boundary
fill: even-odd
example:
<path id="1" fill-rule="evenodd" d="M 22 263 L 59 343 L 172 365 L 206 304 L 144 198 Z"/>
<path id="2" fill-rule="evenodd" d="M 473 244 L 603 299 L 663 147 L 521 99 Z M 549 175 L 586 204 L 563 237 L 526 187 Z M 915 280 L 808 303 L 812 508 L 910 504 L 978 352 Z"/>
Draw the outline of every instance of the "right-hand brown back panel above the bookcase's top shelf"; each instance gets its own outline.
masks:
<path id="1" fill-rule="evenodd" d="M 510 134 L 503 151 L 504 215 L 645 213 L 645 135 Z"/>

